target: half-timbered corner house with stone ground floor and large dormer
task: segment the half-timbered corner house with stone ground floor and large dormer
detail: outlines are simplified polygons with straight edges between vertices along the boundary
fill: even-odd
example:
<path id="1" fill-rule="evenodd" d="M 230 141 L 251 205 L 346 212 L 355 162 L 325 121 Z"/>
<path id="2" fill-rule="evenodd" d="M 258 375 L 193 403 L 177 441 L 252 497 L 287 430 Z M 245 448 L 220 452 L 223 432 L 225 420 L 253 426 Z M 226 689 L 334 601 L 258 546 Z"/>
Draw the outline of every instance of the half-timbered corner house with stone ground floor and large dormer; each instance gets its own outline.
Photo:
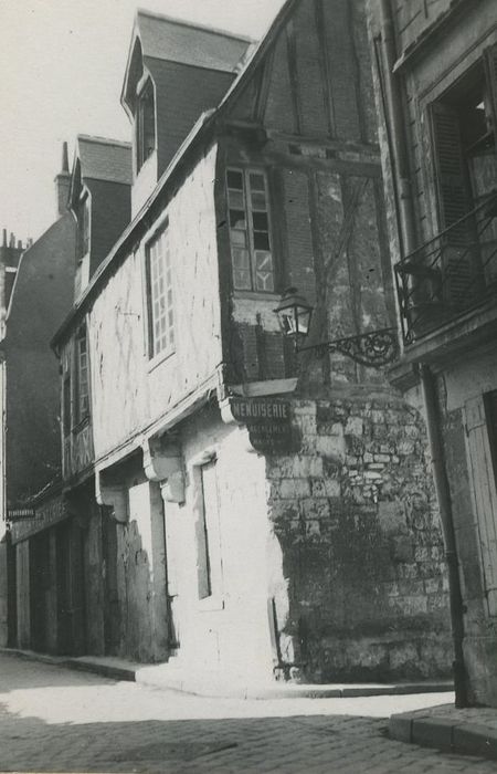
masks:
<path id="1" fill-rule="evenodd" d="M 293 285 L 310 343 L 395 321 L 362 3 L 289 0 L 257 44 L 139 12 L 121 102 L 131 220 L 93 270 L 76 164 L 53 339 L 59 650 L 193 688 L 446 674 L 421 397 L 274 313 Z"/>

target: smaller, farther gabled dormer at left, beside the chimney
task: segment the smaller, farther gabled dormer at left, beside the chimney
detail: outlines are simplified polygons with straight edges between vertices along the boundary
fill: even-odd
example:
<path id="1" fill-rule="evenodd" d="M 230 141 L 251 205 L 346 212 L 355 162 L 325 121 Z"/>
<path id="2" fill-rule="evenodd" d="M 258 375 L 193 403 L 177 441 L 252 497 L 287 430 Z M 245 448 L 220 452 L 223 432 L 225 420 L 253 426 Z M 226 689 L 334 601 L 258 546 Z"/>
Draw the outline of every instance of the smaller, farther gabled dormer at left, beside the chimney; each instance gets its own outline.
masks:
<path id="1" fill-rule="evenodd" d="M 76 220 L 75 301 L 131 215 L 131 145 L 78 135 L 70 209 Z"/>

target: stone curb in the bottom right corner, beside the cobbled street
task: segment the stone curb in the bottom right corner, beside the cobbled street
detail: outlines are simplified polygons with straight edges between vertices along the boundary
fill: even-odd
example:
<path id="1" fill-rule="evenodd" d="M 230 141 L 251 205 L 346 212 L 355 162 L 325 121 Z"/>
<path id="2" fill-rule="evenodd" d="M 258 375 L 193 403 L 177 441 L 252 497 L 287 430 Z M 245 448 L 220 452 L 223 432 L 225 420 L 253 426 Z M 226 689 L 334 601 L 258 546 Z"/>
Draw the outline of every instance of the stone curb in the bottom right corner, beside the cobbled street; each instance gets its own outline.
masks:
<path id="1" fill-rule="evenodd" d="M 497 761 L 497 729 L 487 725 L 405 712 L 390 718 L 389 732 L 399 742 Z"/>

